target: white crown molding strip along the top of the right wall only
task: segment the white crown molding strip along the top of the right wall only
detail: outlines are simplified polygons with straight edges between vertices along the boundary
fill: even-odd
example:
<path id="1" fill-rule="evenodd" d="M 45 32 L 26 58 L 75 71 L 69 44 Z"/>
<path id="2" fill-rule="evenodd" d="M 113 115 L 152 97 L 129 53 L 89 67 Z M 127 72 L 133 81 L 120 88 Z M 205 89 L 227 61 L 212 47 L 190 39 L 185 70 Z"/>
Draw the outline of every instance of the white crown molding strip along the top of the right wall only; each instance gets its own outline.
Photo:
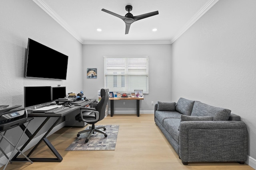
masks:
<path id="1" fill-rule="evenodd" d="M 186 25 L 171 39 L 171 44 L 174 43 L 184 32 L 186 32 L 199 18 L 201 18 L 212 6 L 214 6 L 219 0 L 209 0 L 192 18 L 186 23 Z"/>

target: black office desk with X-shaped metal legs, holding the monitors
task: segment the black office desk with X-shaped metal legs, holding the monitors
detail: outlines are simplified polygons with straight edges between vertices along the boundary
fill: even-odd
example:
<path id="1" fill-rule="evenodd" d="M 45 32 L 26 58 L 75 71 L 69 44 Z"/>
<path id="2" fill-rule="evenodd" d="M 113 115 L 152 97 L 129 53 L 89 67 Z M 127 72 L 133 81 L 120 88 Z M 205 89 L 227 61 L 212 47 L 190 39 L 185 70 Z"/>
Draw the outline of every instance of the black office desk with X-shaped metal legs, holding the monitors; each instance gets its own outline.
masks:
<path id="1" fill-rule="evenodd" d="M 52 153 L 56 156 L 56 158 L 30 158 L 30 160 L 32 160 L 33 162 L 61 162 L 62 161 L 62 156 L 59 154 L 59 152 L 54 148 L 54 146 L 50 143 L 50 141 L 47 139 L 47 135 L 50 133 L 50 131 L 52 131 L 52 129 L 57 125 L 57 123 L 60 121 L 60 119 L 62 117 L 64 117 L 65 115 L 68 115 L 69 113 L 72 113 L 73 111 L 75 111 L 76 109 L 80 109 L 81 107 L 85 107 L 87 105 L 89 105 L 90 103 L 95 102 L 96 99 L 90 99 L 90 101 L 85 101 L 83 103 L 80 104 L 80 106 L 74 106 L 74 107 L 70 107 L 69 109 L 65 109 L 63 111 L 60 111 L 58 113 L 30 113 L 28 111 L 28 117 L 46 117 L 46 119 L 41 123 L 41 125 L 39 125 L 39 127 L 36 129 L 36 131 L 32 134 L 30 133 L 30 131 L 28 129 L 26 129 L 25 133 L 26 135 L 29 137 L 28 141 L 26 141 L 26 143 L 22 146 L 22 148 L 20 149 L 21 151 L 28 145 L 28 143 L 30 143 L 30 141 L 36 136 L 36 134 L 40 131 L 40 129 L 42 129 L 42 127 L 44 127 L 44 125 L 46 124 L 46 122 L 48 122 L 48 120 L 52 117 L 58 117 L 58 119 L 52 124 L 52 126 L 50 127 L 50 129 L 48 129 L 48 131 L 45 133 L 45 135 L 40 139 L 40 141 L 34 146 L 34 148 L 27 154 L 27 157 L 30 158 L 30 155 L 36 150 L 36 148 L 38 147 L 38 145 L 44 141 L 44 143 L 46 143 L 46 145 L 48 146 L 48 148 L 52 151 Z M 76 115 L 74 115 L 76 116 Z M 24 128 L 24 127 L 23 127 Z M 17 158 L 19 154 L 17 153 L 13 158 L 12 161 L 26 161 L 26 158 Z"/>

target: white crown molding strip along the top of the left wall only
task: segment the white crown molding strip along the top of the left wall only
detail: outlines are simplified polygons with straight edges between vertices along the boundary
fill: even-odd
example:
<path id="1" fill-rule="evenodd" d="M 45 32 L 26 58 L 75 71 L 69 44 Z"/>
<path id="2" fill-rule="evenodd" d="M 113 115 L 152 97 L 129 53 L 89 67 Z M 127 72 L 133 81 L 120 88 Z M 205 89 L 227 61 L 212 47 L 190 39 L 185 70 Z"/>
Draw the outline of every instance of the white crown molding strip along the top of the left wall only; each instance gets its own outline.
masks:
<path id="1" fill-rule="evenodd" d="M 51 16 L 56 22 L 58 22 L 64 29 L 66 29 L 73 37 L 75 37 L 80 43 L 82 43 L 82 38 L 77 35 L 77 33 L 60 18 L 52 8 L 44 0 L 33 0 L 42 10 L 44 10 L 49 16 Z"/>

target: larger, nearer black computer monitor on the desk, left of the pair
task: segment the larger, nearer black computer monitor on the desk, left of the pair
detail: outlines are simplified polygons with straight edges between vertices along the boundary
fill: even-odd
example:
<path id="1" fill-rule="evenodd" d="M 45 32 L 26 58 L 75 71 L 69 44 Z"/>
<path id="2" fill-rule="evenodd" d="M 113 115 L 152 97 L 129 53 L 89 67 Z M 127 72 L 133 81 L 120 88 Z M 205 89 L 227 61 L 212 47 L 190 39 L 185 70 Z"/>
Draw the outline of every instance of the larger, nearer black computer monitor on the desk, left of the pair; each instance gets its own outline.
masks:
<path id="1" fill-rule="evenodd" d="M 32 107 L 52 102 L 51 86 L 24 87 L 24 106 Z"/>

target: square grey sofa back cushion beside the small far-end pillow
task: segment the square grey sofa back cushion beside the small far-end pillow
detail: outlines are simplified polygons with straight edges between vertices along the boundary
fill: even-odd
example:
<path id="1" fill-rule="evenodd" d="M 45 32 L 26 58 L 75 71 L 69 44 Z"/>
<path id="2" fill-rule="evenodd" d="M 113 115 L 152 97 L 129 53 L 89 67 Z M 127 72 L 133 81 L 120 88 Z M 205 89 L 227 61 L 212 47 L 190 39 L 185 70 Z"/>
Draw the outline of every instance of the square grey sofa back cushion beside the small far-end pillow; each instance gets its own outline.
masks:
<path id="1" fill-rule="evenodd" d="M 180 98 L 176 104 L 175 109 L 181 114 L 190 116 L 193 109 L 194 102 L 195 101 Z"/>

